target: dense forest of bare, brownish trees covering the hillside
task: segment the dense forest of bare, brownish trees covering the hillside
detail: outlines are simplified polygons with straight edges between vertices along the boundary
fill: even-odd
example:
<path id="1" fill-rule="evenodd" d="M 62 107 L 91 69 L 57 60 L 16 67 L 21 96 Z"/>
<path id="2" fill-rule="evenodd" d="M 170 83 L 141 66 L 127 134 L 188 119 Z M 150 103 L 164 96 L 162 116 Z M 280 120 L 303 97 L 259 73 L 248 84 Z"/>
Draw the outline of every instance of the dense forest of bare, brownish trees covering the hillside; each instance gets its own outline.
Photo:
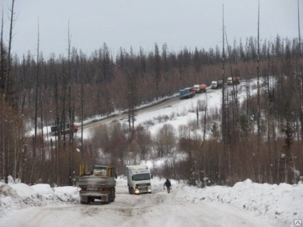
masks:
<path id="1" fill-rule="evenodd" d="M 13 6 L 10 15 L 12 33 Z M 140 159 L 180 153 L 184 158 L 178 162 L 172 158 L 174 161 L 154 173 L 186 179 L 192 185 L 200 181 L 231 185 L 246 178 L 296 183 L 302 175 L 303 51 L 297 38 L 277 35 L 274 41 L 261 40 L 259 50 L 257 38 L 234 40 L 230 46 L 223 35 L 225 57 L 218 46 L 169 52 L 167 44 L 159 48 L 157 43 L 150 52 L 120 48 L 113 56 L 106 43 L 94 53 L 84 54 L 72 47 L 68 31 L 66 56 L 40 53 L 39 35 L 36 54 L 17 56 L 10 53 L 11 34 L 8 43 L 3 39 L 3 26 L 2 19 L 0 179 L 7 181 L 12 175 L 26 184 L 72 185 L 79 164 L 89 166 L 103 160 L 124 173 L 126 161 L 137 164 Z M 222 109 L 208 112 L 207 105 L 200 103 L 193 110 L 197 111 L 197 122 L 178 131 L 166 124 L 152 136 L 148 131 L 152 122 L 135 127 L 136 106 L 172 96 L 185 86 L 209 85 L 222 78 L 223 61 L 225 75 L 247 81 L 256 78 L 257 57 L 266 87 L 259 101 L 249 96 L 248 85 L 247 99 L 240 104 L 234 86 L 232 92 L 223 92 L 224 121 Z M 72 130 L 68 135 L 58 131 L 56 139 L 49 140 L 45 138 L 49 133 L 41 131 L 44 126 L 72 125 L 115 110 L 127 110 L 128 124 L 100 126 L 91 140 L 83 140 L 81 131 L 75 137 Z M 174 118 L 173 114 L 162 117 L 155 121 Z M 226 124 L 224 140 L 222 122 Z M 29 137 L 27 132 L 33 127 L 35 135 Z M 203 138 L 197 130 L 204 132 Z M 208 139 L 206 132 L 211 134 Z"/>

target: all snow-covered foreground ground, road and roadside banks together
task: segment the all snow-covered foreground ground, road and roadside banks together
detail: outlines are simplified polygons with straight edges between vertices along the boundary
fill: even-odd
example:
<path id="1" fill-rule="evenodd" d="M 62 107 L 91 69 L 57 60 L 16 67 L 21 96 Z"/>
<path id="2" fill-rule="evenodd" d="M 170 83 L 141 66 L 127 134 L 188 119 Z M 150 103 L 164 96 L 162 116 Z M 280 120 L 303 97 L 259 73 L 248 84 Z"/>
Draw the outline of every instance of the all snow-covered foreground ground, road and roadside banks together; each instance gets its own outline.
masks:
<path id="1" fill-rule="evenodd" d="M 130 195 L 119 176 L 115 201 L 80 205 L 77 187 L 0 183 L 0 226 L 295 226 L 303 220 L 303 183 L 190 187 L 152 179 L 152 194 Z"/>

